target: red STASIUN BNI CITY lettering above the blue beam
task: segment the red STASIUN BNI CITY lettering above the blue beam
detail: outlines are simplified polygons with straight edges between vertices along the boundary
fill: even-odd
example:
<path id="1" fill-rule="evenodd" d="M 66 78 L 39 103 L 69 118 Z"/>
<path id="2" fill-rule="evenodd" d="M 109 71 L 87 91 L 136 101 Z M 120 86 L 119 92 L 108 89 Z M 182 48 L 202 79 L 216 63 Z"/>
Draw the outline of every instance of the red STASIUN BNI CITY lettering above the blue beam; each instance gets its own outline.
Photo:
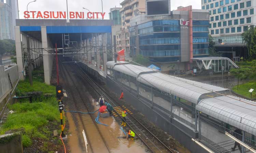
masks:
<path id="1" fill-rule="evenodd" d="M 70 19 L 104 19 L 105 12 L 69 12 Z M 24 18 L 36 19 L 66 19 L 67 12 L 61 11 L 24 11 Z"/>

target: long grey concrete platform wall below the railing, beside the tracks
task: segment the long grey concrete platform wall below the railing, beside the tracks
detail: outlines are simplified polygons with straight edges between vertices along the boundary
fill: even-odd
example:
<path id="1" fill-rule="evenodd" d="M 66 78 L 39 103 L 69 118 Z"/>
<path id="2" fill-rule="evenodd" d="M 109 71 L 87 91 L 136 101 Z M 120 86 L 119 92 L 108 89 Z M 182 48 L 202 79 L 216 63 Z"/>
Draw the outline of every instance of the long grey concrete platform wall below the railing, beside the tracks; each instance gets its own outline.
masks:
<path id="1" fill-rule="evenodd" d="M 187 149 L 189 149 L 192 153 L 206 153 L 204 149 L 198 146 L 195 142 L 191 140 L 191 137 L 195 138 L 196 133 L 186 128 L 179 121 L 175 119 L 169 118 L 167 120 L 160 112 L 151 109 L 150 106 L 142 103 L 139 99 L 134 96 L 132 92 L 128 92 L 121 88 L 119 85 L 114 83 L 108 77 L 106 79 L 106 86 L 110 91 L 120 94 L 121 89 L 124 91 L 125 101 L 130 103 L 134 108 L 140 111 L 145 117 L 151 120 L 153 123 L 158 125 L 162 130 L 166 131 L 173 138 L 179 141 L 182 145 L 184 145 Z"/>

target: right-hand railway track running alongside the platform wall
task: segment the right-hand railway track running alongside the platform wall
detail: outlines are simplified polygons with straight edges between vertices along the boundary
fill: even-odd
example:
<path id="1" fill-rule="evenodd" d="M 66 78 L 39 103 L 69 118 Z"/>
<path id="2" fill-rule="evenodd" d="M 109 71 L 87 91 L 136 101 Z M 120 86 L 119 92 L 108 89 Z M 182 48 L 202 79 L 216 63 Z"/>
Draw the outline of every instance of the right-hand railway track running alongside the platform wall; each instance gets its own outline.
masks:
<path id="1" fill-rule="evenodd" d="M 77 65 L 77 67 L 79 67 Z M 80 68 L 80 67 L 79 67 Z M 100 85 L 98 85 L 93 79 L 91 79 L 81 68 L 80 70 L 75 69 L 76 73 L 80 75 L 93 87 L 95 93 L 98 97 L 102 96 L 108 103 L 110 103 L 113 107 L 120 107 L 125 109 L 123 105 L 118 104 L 108 92 L 103 89 Z M 114 110 L 115 111 L 115 110 Z M 118 115 L 118 118 L 122 120 L 122 117 L 118 114 L 117 111 L 115 113 Z M 167 152 L 167 153 L 178 153 L 177 151 L 170 149 L 167 147 L 162 141 L 160 141 L 150 130 L 148 130 L 140 121 L 138 121 L 132 114 L 128 113 L 128 117 L 126 119 L 126 124 L 130 127 L 130 129 L 136 133 L 136 137 L 139 137 L 143 143 L 153 152 Z M 160 146 L 160 147 L 159 147 Z"/>

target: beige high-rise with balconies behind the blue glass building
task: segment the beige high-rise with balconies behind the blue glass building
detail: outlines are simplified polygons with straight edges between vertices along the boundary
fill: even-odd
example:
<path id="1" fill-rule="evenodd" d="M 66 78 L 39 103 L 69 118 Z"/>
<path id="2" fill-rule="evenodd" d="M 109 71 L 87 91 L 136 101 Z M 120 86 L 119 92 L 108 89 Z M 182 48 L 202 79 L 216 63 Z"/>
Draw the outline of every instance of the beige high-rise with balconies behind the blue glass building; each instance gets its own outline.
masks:
<path id="1" fill-rule="evenodd" d="M 129 27 L 130 19 L 139 14 L 145 14 L 145 0 L 124 0 L 120 3 L 122 30 L 116 33 L 116 45 L 118 50 L 125 49 L 125 57 L 130 57 Z"/>

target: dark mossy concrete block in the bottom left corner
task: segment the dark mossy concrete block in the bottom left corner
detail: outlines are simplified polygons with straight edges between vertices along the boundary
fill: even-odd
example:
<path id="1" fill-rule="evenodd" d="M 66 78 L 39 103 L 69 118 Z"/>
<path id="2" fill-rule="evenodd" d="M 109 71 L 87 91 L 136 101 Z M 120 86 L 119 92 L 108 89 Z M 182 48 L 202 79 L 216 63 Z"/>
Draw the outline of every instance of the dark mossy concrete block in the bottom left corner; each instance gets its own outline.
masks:
<path id="1" fill-rule="evenodd" d="M 5 134 L 0 135 L 0 139 L 8 141 L 0 143 L 1 153 L 23 153 L 21 135 Z"/>

